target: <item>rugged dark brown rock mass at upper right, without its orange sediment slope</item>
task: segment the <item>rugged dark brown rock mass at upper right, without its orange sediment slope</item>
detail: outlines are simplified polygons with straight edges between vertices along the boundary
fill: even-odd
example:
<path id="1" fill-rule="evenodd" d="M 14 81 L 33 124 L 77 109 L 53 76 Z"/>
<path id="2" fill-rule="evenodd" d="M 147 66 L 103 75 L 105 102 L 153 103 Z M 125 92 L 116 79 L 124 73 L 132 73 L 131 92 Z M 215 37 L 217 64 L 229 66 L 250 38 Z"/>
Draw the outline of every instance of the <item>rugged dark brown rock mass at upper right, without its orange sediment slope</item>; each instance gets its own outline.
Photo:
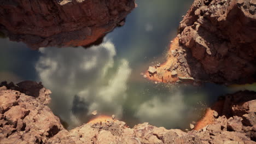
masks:
<path id="1" fill-rule="evenodd" d="M 193 3 L 180 23 L 179 40 L 201 64 L 206 73 L 202 79 L 220 83 L 256 81 L 255 8 L 251 0 Z"/>

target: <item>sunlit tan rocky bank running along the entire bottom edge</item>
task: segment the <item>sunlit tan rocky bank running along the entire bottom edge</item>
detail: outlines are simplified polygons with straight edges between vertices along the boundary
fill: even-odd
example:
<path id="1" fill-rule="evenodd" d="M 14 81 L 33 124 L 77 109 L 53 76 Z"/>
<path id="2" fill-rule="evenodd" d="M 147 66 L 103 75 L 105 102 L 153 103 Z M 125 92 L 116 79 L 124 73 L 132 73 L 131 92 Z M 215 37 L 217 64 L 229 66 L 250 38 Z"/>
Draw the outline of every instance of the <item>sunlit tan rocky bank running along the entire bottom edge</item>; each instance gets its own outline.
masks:
<path id="1" fill-rule="evenodd" d="M 0 83 L 0 143 L 256 143 L 255 92 L 227 95 L 223 115 L 188 133 L 148 123 L 129 128 L 111 117 L 67 131 L 47 106 L 50 93 L 32 81 Z"/>

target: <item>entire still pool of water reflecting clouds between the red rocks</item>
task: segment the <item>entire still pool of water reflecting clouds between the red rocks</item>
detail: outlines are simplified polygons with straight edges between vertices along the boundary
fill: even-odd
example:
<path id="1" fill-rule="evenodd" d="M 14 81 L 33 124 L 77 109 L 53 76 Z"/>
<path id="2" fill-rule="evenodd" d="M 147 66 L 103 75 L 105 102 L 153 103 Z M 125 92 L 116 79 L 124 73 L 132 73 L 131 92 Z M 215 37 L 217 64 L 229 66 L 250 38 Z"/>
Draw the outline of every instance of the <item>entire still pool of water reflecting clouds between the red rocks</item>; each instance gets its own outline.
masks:
<path id="1" fill-rule="evenodd" d="M 141 75 L 152 62 L 164 62 L 169 41 L 193 1 L 136 1 L 123 27 L 104 42 L 83 47 L 40 48 L 0 39 L 0 81 L 42 81 L 51 89 L 50 107 L 69 129 L 94 116 L 115 115 L 130 127 L 143 122 L 166 128 L 189 127 L 218 96 L 255 85 L 225 87 L 205 83 L 155 84 Z"/>

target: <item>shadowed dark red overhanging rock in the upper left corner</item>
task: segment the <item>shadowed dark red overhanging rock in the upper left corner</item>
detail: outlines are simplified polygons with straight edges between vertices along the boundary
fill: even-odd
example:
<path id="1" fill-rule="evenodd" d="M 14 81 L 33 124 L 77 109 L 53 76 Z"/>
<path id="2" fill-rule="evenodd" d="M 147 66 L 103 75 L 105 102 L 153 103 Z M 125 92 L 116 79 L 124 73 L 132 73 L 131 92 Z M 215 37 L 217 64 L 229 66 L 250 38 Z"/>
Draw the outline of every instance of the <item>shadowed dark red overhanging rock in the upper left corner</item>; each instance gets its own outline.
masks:
<path id="1" fill-rule="evenodd" d="M 0 32 L 33 49 L 85 46 L 124 25 L 133 8 L 134 0 L 1 1 Z"/>

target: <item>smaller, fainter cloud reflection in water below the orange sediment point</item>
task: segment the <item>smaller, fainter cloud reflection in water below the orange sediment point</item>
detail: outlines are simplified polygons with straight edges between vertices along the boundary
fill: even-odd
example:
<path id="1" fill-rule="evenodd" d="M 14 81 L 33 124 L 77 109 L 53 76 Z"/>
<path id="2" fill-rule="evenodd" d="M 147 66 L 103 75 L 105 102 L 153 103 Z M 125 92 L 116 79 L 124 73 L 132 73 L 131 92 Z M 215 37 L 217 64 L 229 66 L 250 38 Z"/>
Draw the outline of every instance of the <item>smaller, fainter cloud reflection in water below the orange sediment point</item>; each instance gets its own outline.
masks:
<path id="1" fill-rule="evenodd" d="M 170 125 L 175 126 L 175 124 L 183 122 L 183 113 L 187 108 L 187 105 L 184 104 L 184 95 L 177 91 L 164 100 L 153 97 L 144 102 L 139 106 L 136 116 L 142 122 L 170 127 Z"/>

